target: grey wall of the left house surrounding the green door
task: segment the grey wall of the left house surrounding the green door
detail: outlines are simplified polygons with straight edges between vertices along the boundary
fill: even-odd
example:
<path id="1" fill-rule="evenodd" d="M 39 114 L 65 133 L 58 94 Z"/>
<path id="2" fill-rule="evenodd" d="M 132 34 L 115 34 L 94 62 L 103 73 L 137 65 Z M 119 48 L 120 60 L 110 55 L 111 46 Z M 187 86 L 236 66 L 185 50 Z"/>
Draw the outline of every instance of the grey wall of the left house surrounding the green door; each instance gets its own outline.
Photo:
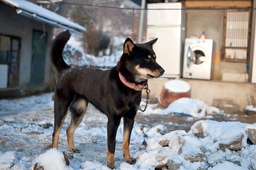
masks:
<path id="1" fill-rule="evenodd" d="M 36 92 L 49 89 L 50 86 L 50 43 L 52 39 L 52 26 L 45 24 L 47 32 L 47 52 L 45 61 L 45 86 L 39 89 L 30 89 L 30 66 L 32 55 L 33 29 L 43 31 L 43 24 L 33 19 L 18 15 L 15 8 L 0 2 L 0 33 L 21 38 L 20 65 L 19 65 L 19 92 L 25 95 L 28 91 Z M 4 91 L 4 90 L 1 90 Z M 0 92 L 1 94 L 2 92 Z M 1 95 L 0 95 L 1 96 Z"/>

